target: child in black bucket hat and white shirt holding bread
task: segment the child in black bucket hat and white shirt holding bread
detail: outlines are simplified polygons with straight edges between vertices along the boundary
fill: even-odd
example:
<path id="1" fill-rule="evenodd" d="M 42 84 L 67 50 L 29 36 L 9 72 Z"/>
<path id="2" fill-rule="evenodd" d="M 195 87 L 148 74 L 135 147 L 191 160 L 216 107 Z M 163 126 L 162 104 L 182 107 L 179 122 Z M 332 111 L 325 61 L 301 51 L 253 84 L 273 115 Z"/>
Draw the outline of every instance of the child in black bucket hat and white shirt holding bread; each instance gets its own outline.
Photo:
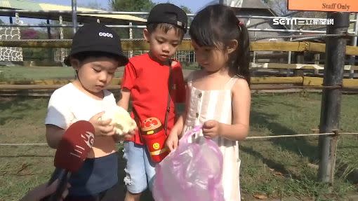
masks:
<path id="1" fill-rule="evenodd" d="M 51 148 L 57 148 L 69 125 L 77 120 L 93 124 L 93 148 L 81 169 L 70 176 L 71 187 L 65 200 L 102 200 L 118 183 L 118 156 L 111 120 L 98 118 L 106 109 L 117 106 L 114 95 L 105 87 L 117 67 L 126 65 L 128 59 L 121 51 L 119 36 L 94 22 L 78 29 L 64 62 L 76 70 L 77 77 L 51 95 L 45 120 L 46 139 Z"/>

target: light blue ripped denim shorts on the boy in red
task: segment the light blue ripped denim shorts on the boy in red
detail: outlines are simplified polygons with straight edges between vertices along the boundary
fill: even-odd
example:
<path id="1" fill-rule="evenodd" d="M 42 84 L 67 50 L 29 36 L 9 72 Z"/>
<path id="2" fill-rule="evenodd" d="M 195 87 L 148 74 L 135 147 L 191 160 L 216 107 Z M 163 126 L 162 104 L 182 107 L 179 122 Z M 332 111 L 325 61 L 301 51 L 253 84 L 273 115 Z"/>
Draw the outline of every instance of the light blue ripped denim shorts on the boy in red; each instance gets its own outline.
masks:
<path id="1" fill-rule="evenodd" d="M 133 141 L 124 142 L 124 159 L 127 160 L 124 183 L 131 193 L 142 193 L 148 187 L 152 190 L 156 163 L 150 160 L 145 145 Z"/>

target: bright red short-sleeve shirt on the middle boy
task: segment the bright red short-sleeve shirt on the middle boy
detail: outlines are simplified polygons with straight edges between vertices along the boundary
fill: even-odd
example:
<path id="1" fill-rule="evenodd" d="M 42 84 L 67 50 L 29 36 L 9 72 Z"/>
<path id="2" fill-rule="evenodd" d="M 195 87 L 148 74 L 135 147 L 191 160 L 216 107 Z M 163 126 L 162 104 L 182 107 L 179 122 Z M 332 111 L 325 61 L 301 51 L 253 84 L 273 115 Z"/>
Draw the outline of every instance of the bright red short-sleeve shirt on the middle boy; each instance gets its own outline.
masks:
<path id="1" fill-rule="evenodd" d="M 173 85 L 171 88 L 171 110 L 168 115 L 168 132 L 175 123 L 175 103 L 185 102 L 185 82 L 179 62 L 172 67 L 171 72 Z M 131 90 L 132 106 L 137 111 L 140 122 L 143 122 L 145 118 L 156 117 L 164 125 L 168 102 L 168 77 L 169 67 L 152 60 L 148 54 L 132 57 L 129 60 L 124 69 L 121 87 Z M 131 117 L 134 118 L 133 112 Z M 137 125 L 139 128 L 138 121 Z M 143 144 L 138 132 L 135 133 L 131 141 Z"/>

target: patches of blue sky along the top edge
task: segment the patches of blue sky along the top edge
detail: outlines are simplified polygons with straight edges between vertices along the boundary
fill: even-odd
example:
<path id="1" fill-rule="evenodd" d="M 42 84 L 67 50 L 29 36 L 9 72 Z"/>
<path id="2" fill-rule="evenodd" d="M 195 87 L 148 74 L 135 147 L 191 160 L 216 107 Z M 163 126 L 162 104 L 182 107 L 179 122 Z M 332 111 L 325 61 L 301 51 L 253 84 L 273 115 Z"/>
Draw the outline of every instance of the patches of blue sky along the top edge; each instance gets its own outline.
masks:
<path id="1" fill-rule="evenodd" d="M 61 4 L 61 5 L 67 5 L 71 6 L 71 0 L 29 0 L 34 2 L 40 2 L 40 3 L 49 3 L 49 4 Z M 135 1 L 135 0 L 133 0 Z M 154 3 L 166 3 L 168 0 L 152 0 Z M 169 0 L 172 4 L 175 4 L 177 6 L 187 6 L 190 8 L 190 10 L 193 13 L 196 13 L 199 11 L 199 9 L 203 8 L 206 4 L 208 4 L 211 0 Z M 88 4 L 100 4 L 102 8 L 108 8 L 108 1 L 107 0 L 77 0 L 77 6 L 85 7 Z M 5 23 L 9 23 L 8 17 L 0 17 L 1 20 L 3 20 Z M 14 19 L 13 19 L 14 20 Z M 38 24 L 41 21 L 44 20 L 32 20 L 27 18 L 21 18 L 21 20 L 25 24 Z"/>

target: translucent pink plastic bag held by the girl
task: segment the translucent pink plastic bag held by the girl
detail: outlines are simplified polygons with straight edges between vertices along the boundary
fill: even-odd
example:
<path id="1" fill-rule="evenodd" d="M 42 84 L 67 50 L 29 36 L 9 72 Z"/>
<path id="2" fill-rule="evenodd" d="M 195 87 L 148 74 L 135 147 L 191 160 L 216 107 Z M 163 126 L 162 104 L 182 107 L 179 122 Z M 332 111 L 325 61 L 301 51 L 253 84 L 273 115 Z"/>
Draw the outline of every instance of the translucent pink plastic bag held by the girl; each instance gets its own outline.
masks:
<path id="1" fill-rule="evenodd" d="M 187 139 L 201 130 L 194 127 L 180 139 L 178 148 L 156 167 L 153 197 L 156 201 L 223 201 L 223 154 L 211 139 L 204 144 Z"/>

